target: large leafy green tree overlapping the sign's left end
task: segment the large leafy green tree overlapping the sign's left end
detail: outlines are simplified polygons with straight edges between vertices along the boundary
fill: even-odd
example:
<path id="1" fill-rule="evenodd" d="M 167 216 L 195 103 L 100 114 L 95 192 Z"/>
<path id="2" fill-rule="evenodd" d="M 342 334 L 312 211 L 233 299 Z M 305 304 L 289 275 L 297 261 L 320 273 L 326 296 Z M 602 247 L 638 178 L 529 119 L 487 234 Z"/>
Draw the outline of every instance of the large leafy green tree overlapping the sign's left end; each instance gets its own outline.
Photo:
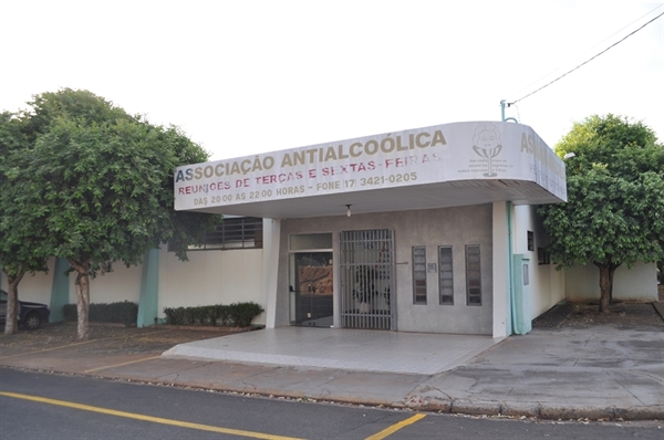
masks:
<path id="1" fill-rule="evenodd" d="M 87 91 L 44 93 L 29 105 L 15 115 L 27 139 L 19 209 L 43 222 L 40 254 L 66 259 L 76 273 L 77 338 L 87 339 L 91 276 L 114 262 L 139 264 L 172 239 L 186 260 L 187 245 L 216 224 L 173 208 L 175 167 L 208 155 L 176 127 L 153 126 Z"/>

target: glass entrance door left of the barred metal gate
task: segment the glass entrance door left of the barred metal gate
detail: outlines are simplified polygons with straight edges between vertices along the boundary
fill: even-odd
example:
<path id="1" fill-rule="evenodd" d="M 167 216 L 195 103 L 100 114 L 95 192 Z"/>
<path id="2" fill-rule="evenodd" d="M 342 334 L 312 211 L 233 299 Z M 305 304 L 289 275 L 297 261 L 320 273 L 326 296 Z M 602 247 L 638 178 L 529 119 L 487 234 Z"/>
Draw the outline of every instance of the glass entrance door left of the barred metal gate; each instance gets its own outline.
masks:
<path id="1" fill-rule="evenodd" d="M 292 325 L 333 325 L 332 252 L 291 253 L 289 285 Z"/>

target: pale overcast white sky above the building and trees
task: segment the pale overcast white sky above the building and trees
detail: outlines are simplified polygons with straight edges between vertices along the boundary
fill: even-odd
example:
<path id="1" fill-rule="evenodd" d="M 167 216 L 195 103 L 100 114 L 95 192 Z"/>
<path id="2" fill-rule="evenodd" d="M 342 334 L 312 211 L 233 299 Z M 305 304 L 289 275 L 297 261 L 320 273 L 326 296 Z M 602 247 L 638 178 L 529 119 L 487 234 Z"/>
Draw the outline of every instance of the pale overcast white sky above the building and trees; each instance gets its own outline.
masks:
<path id="1" fill-rule="evenodd" d="M 211 160 L 501 121 L 501 99 L 551 147 L 609 113 L 664 142 L 664 17 L 636 31 L 662 12 L 661 1 L 0 0 L 0 111 L 89 90 L 179 126 Z"/>

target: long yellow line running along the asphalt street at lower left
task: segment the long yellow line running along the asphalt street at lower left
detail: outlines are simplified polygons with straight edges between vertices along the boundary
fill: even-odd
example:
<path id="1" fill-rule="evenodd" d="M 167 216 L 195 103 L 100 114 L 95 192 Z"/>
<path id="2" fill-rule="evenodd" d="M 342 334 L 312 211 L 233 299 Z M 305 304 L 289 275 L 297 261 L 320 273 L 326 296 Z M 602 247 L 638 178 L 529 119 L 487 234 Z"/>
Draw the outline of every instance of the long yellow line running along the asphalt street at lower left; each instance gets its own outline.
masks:
<path id="1" fill-rule="evenodd" d="M 56 406 L 66 407 L 66 408 L 80 409 L 83 411 L 100 412 L 100 413 L 108 415 L 108 416 L 124 417 L 127 419 L 149 421 L 153 423 L 169 425 L 169 426 L 175 426 L 175 427 L 180 427 L 180 428 L 189 428 L 189 429 L 198 429 L 200 431 L 227 433 L 230 436 L 250 437 L 252 439 L 301 440 L 301 439 L 298 439 L 294 437 L 272 436 L 272 434 L 262 433 L 262 432 L 252 432 L 252 431 L 243 431 L 240 429 L 214 427 L 211 425 L 191 423 L 188 421 L 164 419 L 160 417 L 144 416 L 144 415 L 138 415 L 138 413 L 134 413 L 134 412 L 117 411 L 114 409 L 92 407 L 89 405 L 74 404 L 74 402 L 65 401 L 65 400 L 48 399 L 45 397 L 28 396 L 28 395 L 22 395 L 22 394 L 17 394 L 17 392 L 0 391 L 0 396 L 13 397 L 15 399 L 31 400 L 31 401 L 37 401 L 40 404 L 56 405 Z"/>

